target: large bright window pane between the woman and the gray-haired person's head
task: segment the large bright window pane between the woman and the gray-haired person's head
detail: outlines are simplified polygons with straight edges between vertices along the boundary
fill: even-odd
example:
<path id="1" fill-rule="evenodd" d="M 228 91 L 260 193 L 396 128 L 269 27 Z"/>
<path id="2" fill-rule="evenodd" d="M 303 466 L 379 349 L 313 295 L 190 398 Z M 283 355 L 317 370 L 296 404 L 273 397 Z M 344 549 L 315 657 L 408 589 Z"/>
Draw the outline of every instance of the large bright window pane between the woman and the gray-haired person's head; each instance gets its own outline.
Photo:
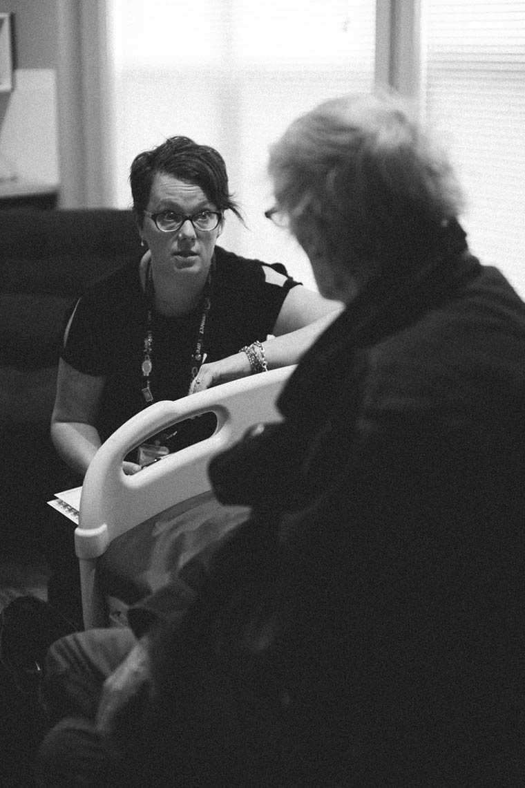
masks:
<path id="1" fill-rule="evenodd" d="M 264 218 L 268 146 L 299 113 L 374 81 L 371 0 L 110 0 L 116 98 L 115 204 L 135 154 L 182 134 L 216 147 L 248 229 L 221 243 L 284 262 L 313 285 L 304 253 Z"/>

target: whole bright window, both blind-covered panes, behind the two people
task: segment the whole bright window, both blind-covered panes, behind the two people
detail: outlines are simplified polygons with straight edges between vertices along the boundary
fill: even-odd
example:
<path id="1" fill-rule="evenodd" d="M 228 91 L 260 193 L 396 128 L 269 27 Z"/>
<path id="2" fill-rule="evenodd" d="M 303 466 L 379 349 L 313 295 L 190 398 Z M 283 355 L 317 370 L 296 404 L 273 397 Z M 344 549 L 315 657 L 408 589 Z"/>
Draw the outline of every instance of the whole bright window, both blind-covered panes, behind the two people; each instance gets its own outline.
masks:
<path id="1" fill-rule="evenodd" d="M 376 6 L 386 28 L 390 12 L 420 6 L 419 39 L 417 31 L 413 42 L 393 39 L 394 51 L 420 50 L 420 79 L 409 58 L 404 69 L 423 86 L 423 115 L 457 167 L 472 251 L 525 296 L 525 0 L 402 2 L 108 0 L 113 204 L 129 205 L 128 169 L 139 151 L 174 134 L 213 145 L 248 225 L 231 217 L 221 242 L 242 255 L 281 260 L 312 285 L 305 255 L 263 217 L 272 200 L 268 146 L 321 100 L 372 87 Z M 377 51 L 387 80 L 392 59 L 383 54 L 383 33 Z"/>

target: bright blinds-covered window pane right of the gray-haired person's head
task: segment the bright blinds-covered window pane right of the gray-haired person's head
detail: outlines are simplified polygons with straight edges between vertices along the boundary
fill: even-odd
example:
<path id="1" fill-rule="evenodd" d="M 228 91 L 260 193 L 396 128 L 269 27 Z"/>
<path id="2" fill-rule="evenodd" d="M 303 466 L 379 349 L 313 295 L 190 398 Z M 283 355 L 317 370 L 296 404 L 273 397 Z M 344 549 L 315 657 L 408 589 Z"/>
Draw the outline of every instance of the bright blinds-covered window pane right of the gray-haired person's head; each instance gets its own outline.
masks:
<path id="1" fill-rule="evenodd" d="M 423 104 L 452 152 L 472 251 L 525 296 L 525 0 L 426 0 Z"/>

